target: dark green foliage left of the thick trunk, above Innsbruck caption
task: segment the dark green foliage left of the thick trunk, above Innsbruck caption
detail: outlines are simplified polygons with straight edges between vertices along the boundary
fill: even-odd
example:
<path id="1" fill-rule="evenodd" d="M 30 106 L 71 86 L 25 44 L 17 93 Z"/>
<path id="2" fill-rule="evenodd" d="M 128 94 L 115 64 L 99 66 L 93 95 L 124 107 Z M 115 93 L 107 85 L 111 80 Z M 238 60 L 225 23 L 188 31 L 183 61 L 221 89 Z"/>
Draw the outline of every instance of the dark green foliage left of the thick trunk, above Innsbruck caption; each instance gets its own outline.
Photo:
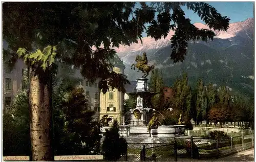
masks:
<path id="1" fill-rule="evenodd" d="M 4 156 L 30 156 L 29 99 L 19 90 L 10 107 L 3 110 Z"/>

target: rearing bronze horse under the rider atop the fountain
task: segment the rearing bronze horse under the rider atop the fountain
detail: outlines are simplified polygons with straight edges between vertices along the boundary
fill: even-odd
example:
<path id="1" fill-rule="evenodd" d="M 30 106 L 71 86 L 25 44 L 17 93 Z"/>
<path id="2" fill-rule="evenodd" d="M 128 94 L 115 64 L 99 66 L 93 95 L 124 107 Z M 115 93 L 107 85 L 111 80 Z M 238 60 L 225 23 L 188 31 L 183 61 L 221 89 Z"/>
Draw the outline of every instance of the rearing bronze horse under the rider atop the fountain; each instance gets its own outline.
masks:
<path id="1" fill-rule="evenodd" d="M 133 63 L 131 68 L 133 68 L 135 70 L 135 67 L 140 67 L 138 68 L 139 71 L 141 71 L 142 73 L 144 73 L 144 75 L 142 76 L 142 78 L 146 78 L 148 76 L 148 73 L 150 73 L 150 71 L 152 71 L 152 73 L 154 73 L 154 68 L 155 65 L 147 65 L 147 64 L 141 64 L 142 57 L 140 55 L 136 56 L 135 61 L 137 62 L 136 64 Z"/>

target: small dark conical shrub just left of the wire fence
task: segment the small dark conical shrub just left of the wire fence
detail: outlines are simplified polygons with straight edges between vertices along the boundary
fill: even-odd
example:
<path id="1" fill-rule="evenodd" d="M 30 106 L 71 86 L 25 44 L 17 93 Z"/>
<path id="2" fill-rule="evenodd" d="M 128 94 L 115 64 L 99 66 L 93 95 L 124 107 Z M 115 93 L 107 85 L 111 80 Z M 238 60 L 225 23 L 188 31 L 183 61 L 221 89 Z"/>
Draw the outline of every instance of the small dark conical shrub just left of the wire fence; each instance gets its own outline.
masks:
<path id="1" fill-rule="evenodd" d="M 102 143 L 102 154 L 108 161 L 117 161 L 121 155 L 127 152 L 127 142 L 123 137 L 119 137 L 118 122 L 114 120 L 110 130 L 106 130 L 105 139 Z"/>

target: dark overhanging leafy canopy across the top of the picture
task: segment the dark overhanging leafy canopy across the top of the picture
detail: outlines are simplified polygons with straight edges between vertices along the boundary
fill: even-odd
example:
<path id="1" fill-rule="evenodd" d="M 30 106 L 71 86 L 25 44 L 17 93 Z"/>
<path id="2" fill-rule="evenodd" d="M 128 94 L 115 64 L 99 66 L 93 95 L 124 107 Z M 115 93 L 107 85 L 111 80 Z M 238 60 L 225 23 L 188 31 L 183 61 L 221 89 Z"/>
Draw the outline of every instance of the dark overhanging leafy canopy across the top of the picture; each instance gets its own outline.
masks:
<path id="1" fill-rule="evenodd" d="M 185 18 L 181 6 L 197 13 L 210 29 L 226 31 L 229 27 L 229 18 L 202 2 L 164 2 L 158 5 L 141 2 L 139 8 L 130 2 L 4 3 L 3 36 L 9 45 L 5 53 L 9 55 L 9 63 L 13 64 L 18 48 L 38 54 L 37 50 L 57 45 L 55 60 L 75 65 L 90 81 L 101 78 L 103 92 L 108 90 L 107 79 L 112 80 L 113 87 L 125 91 L 123 85 L 127 80 L 109 71 L 112 65 L 107 60 L 115 54 L 112 48 L 138 43 L 144 30 L 156 40 L 174 30 L 171 58 L 178 62 L 184 60 L 190 39 L 206 41 L 215 36 L 210 30 L 199 30 L 192 25 L 190 19 Z M 149 24 L 148 28 L 145 24 Z M 68 52 L 62 51 L 63 45 L 69 49 Z"/>

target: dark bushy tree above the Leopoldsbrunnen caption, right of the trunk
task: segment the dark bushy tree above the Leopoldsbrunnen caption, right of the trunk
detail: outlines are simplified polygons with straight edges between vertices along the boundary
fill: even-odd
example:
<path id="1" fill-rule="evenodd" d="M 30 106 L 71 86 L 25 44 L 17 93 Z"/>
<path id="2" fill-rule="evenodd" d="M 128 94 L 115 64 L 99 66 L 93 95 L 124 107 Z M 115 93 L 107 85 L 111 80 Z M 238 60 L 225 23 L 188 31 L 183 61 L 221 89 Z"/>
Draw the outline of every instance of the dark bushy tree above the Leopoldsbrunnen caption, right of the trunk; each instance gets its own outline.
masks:
<path id="1" fill-rule="evenodd" d="M 55 145 L 58 146 L 56 154 L 99 154 L 102 137 L 100 124 L 93 121 L 94 112 L 87 110 L 83 88 L 75 87 L 64 96 L 61 106 L 62 117 L 59 117 L 63 120 L 61 123 L 56 122 L 58 127 L 62 128 L 61 134 L 55 136 Z"/>

